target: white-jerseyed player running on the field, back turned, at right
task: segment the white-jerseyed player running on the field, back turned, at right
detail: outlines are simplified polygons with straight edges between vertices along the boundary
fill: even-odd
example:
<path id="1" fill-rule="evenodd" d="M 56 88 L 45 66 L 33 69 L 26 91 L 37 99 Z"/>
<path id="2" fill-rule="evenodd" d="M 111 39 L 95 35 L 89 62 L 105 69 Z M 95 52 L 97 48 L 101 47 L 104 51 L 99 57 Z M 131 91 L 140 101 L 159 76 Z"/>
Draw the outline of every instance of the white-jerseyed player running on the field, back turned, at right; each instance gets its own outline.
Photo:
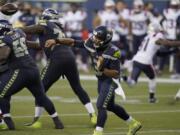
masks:
<path id="1" fill-rule="evenodd" d="M 156 76 L 152 65 L 153 57 L 160 49 L 160 45 L 172 46 L 172 43 L 173 41 L 168 41 L 165 39 L 163 29 L 159 23 L 151 23 L 149 25 L 149 34 L 144 38 L 137 54 L 133 57 L 133 71 L 127 82 L 129 85 L 135 85 L 138 81 L 140 73 L 143 71 L 149 78 L 150 103 L 156 102 Z M 168 51 L 165 53 L 170 54 L 173 51 Z"/>

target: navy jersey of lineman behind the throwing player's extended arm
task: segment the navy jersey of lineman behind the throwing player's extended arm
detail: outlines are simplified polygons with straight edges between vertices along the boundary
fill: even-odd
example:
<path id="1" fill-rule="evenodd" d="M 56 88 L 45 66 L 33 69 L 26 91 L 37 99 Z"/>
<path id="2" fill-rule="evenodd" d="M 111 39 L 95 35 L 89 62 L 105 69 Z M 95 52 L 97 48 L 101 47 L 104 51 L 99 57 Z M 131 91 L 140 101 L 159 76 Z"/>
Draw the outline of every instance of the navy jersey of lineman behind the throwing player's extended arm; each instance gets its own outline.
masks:
<path id="1" fill-rule="evenodd" d="M 48 58 L 59 57 L 62 49 L 64 51 L 71 51 L 67 46 L 54 46 L 51 48 L 45 47 L 45 42 L 48 39 L 56 39 L 64 37 L 64 33 L 62 32 L 60 26 L 57 23 L 41 20 L 39 25 L 43 26 L 45 32 L 39 35 L 40 45 L 44 49 L 45 54 Z"/>

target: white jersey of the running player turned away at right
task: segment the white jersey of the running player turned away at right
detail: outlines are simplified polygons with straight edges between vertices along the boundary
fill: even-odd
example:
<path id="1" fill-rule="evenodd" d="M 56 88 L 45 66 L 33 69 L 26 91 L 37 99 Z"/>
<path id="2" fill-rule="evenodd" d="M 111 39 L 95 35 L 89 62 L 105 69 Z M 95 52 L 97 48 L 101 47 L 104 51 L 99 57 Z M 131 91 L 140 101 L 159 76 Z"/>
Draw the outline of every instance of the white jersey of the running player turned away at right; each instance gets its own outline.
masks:
<path id="1" fill-rule="evenodd" d="M 153 57 L 160 49 L 160 45 L 156 44 L 158 39 L 164 39 L 164 35 L 160 32 L 147 35 L 139 47 L 138 52 L 133 57 L 133 60 L 142 64 L 151 65 L 153 63 Z"/>

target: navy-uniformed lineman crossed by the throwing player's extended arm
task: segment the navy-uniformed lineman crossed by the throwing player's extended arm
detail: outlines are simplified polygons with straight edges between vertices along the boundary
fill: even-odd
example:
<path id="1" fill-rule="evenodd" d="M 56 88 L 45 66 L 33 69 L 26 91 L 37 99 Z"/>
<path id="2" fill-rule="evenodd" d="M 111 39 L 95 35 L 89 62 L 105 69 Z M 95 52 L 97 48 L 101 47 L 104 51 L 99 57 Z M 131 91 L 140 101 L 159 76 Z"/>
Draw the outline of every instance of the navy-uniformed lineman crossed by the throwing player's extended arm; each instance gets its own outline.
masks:
<path id="1" fill-rule="evenodd" d="M 60 14 L 53 9 L 46 9 L 42 14 L 42 20 L 37 25 L 24 27 L 23 31 L 28 34 L 39 35 L 40 48 L 44 49 L 48 58 L 47 66 L 41 73 L 41 79 L 47 92 L 49 88 L 61 77 L 66 76 L 72 90 L 78 96 L 80 101 L 87 109 L 92 124 L 96 124 L 96 114 L 90 98 L 85 90 L 82 88 L 79 80 L 79 73 L 77 70 L 75 56 L 70 48 L 67 46 L 56 46 L 53 48 L 45 48 L 45 42 L 51 38 L 64 37 L 63 29 L 58 19 Z M 38 45 L 35 48 L 39 48 Z M 34 122 L 42 114 L 42 107 L 37 104 L 35 108 Z"/>

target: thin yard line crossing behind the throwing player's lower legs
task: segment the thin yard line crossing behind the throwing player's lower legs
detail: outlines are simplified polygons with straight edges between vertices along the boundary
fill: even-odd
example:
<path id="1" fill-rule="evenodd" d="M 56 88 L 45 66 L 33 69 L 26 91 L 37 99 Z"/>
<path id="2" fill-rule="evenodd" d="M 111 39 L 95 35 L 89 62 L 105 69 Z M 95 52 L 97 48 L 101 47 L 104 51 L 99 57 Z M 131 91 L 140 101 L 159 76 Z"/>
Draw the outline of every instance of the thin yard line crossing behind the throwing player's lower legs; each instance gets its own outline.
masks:
<path id="1" fill-rule="evenodd" d="M 155 110 L 155 111 L 137 111 L 137 112 L 129 112 L 130 114 L 157 114 L 157 113 L 180 113 L 180 110 Z M 109 115 L 112 115 L 113 113 L 109 113 Z M 74 117 L 74 116 L 88 116 L 87 113 L 66 113 L 61 114 L 61 117 Z M 32 118 L 33 115 L 20 115 L 20 116 L 13 116 L 13 118 L 21 119 L 21 118 Z M 50 117 L 49 115 L 42 115 L 42 117 Z"/>

